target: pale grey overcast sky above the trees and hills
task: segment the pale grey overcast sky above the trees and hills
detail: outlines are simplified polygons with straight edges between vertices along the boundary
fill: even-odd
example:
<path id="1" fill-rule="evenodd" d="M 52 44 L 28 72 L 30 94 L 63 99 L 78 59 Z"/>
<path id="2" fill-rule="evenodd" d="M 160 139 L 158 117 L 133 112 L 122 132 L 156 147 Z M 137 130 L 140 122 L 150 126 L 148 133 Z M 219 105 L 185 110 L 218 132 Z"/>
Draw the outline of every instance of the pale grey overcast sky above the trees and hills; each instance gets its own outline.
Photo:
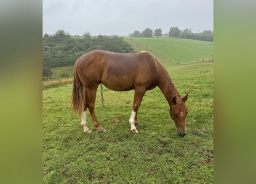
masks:
<path id="1" fill-rule="evenodd" d="M 172 26 L 213 30 L 213 0 L 43 0 L 43 34 L 128 35 Z"/>

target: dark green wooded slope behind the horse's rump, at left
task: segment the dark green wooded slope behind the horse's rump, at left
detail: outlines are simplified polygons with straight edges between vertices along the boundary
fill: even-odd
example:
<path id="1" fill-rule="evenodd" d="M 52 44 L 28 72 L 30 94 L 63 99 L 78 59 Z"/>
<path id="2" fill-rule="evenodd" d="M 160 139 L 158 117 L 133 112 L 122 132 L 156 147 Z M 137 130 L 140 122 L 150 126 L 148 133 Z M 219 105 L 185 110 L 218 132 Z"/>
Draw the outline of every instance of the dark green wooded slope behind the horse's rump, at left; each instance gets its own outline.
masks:
<path id="1" fill-rule="evenodd" d="M 102 36 L 91 37 L 90 33 L 82 37 L 72 37 L 64 30 L 43 36 L 43 79 L 52 75 L 52 67 L 72 66 L 79 56 L 93 49 L 104 49 L 113 52 L 133 52 L 122 37 Z"/>

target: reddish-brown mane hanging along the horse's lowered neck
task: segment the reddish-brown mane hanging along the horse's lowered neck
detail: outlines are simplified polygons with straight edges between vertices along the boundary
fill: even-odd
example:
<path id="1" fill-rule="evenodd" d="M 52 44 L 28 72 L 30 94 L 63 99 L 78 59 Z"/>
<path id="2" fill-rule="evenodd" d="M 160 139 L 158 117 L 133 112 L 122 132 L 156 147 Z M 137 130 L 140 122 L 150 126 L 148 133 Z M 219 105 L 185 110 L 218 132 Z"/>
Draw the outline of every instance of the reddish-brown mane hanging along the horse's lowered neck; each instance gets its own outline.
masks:
<path id="1" fill-rule="evenodd" d="M 170 99 L 174 96 L 180 97 L 178 90 L 174 86 L 173 81 L 170 78 L 169 73 L 167 72 L 166 68 L 163 67 L 162 63 L 156 59 L 151 53 L 151 61 L 155 69 L 156 79 L 158 81 L 158 87 L 161 89 L 163 95 L 165 95 L 167 101 L 170 103 Z"/>

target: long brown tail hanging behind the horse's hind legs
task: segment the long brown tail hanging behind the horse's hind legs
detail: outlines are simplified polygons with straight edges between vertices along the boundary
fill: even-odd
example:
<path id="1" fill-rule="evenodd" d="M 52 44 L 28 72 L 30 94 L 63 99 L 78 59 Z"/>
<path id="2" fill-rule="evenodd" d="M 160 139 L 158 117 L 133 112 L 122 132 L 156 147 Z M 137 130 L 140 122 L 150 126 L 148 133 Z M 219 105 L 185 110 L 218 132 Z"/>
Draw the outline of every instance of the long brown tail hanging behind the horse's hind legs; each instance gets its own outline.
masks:
<path id="1" fill-rule="evenodd" d="M 74 112 L 78 112 L 79 116 L 85 109 L 85 95 L 86 91 L 83 89 L 83 84 L 77 74 L 77 64 L 74 66 L 74 84 L 72 91 L 72 108 Z"/>

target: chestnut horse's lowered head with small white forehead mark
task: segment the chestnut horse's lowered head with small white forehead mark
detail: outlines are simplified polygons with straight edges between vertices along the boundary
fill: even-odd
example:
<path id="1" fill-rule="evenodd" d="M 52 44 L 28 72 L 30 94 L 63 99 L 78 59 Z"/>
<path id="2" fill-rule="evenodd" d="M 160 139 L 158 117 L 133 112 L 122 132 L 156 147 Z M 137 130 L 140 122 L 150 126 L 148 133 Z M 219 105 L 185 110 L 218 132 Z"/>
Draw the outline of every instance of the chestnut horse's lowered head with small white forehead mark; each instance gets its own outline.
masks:
<path id="1" fill-rule="evenodd" d="M 188 99 L 188 93 L 185 97 L 180 98 L 174 96 L 171 99 L 170 116 L 175 122 L 177 132 L 182 137 L 186 135 L 186 116 L 188 114 L 188 108 L 185 105 L 185 101 Z"/>

